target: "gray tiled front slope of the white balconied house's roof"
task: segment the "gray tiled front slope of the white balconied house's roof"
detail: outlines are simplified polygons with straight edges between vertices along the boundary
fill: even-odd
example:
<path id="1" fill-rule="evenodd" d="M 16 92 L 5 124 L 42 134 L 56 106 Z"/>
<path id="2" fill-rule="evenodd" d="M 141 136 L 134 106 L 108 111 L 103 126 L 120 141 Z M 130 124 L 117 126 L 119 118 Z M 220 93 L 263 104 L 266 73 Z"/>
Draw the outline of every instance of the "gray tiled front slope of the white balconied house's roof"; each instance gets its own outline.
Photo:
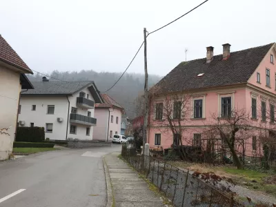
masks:
<path id="1" fill-rule="evenodd" d="M 21 95 L 72 95 L 93 81 L 37 81 L 32 82 L 34 89 L 21 92 Z"/>

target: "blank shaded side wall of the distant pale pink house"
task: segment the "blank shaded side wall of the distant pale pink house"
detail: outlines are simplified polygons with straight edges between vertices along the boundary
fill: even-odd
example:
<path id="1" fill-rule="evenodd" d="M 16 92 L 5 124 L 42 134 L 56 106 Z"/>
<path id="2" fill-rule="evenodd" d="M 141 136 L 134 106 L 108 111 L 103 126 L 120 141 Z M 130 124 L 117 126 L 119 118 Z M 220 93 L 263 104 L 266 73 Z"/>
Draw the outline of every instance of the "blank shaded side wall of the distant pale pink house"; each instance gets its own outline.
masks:
<path id="1" fill-rule="evenodd" d="M 93 139 L 107 139 L 108 110 L 109 108 L 95 108 L 95 118 L 97 119 L 97 126 L 95 126 L 93 130 Z"/>

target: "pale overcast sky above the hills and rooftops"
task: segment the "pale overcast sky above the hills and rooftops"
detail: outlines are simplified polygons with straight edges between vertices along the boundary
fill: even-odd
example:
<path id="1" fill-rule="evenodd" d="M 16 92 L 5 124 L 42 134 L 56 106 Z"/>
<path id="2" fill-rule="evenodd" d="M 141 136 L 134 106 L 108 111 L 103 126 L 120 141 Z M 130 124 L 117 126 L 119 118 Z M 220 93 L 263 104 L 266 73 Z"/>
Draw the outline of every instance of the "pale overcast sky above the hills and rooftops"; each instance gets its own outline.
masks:
<path id="1" fill-rule="evenodd" d="M 0 34 L 33 70 L 122 72 L 148 32 L 203 0 L 1 1 Z M 148 37 L 148 72 L 166 75 L 181 61 L 275 41 L 275 0 L 209 0 Z M 128 72 L 144 72 L 144 50 Z"/>

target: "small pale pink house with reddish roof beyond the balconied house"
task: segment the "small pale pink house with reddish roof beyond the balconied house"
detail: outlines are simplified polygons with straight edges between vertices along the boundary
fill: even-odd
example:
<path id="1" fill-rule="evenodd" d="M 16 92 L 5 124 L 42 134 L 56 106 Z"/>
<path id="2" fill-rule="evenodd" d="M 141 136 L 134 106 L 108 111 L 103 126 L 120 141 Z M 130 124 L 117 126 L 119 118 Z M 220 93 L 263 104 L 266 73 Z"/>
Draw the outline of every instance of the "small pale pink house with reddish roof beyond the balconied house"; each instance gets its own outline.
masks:
<path id="1" fill-rule="evenodd" d="M 111 137 L 121 133 L 121 115 L 124 108 L 107 94 L 102 94 L 104 103 L 95 104 L 97 126 L 93 137 L 97 140 L 111 140 Z"/>

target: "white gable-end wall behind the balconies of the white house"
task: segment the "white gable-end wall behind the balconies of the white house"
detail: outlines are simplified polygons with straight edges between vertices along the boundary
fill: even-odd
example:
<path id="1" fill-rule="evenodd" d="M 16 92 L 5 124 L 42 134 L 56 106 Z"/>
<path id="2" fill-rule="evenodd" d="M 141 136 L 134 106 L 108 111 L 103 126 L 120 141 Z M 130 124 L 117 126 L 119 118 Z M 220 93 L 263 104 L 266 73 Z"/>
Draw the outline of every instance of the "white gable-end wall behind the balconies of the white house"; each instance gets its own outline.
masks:
<path id="1" fill-rule="evenodd" d="M 89 99 L 92 101 L 95 101 L 95 99 L 92 97 L 90 91 L 88 90 L 88 88 L 84 88 L 82 90 L 79 90 L 78 92 L 76 92 L 72 97 L 69 97 L 69 101 L 70 101 L 70 113 L 71 113 L 71 108 L 77 108 L 77 114 L 79 115 L 84 115 L 87 116 L 88 115 L 88 111 L 91 112 L 91 117 L 94 117 L 94 108 L 93 109 L 86 109 L 86 108 L 80 108 L 79 106 L 77 106 L 77 97 L 79 97 L 79 92 L 85 92 L 86 95 L 89 94 Z M 69 114 L 70 114 L 69 113 Z M 68 117 L 68 119 L 70 119 L 70 115 Z M 77 126 L 77 134 L 70 134 L 70 120 L 69 120 L 69 124 L 68 124 L 68 138 L 71 139 L 81 139 L 81 140 L 92 140 L 93 139 L 93 126 L 84 126 L 82 124 L 72 124 Z M 90 136 L 86 136 L 86 128 L 90 127 Z"/>

